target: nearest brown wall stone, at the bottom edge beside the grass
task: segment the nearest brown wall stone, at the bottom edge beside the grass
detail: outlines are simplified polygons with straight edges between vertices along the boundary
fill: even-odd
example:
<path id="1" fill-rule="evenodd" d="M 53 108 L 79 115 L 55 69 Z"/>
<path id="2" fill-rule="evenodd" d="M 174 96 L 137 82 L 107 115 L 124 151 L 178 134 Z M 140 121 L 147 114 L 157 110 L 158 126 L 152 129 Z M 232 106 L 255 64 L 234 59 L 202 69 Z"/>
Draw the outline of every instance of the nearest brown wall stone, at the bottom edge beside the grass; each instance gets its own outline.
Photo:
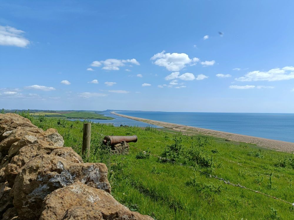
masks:
<path id="1" fill-rule="evenodd" d="M 153 218 L 130 211 L 101 189 L 76 182 L 56 189 L 44 200 L 40 220 L 52 219 L 152 220 Z"/>

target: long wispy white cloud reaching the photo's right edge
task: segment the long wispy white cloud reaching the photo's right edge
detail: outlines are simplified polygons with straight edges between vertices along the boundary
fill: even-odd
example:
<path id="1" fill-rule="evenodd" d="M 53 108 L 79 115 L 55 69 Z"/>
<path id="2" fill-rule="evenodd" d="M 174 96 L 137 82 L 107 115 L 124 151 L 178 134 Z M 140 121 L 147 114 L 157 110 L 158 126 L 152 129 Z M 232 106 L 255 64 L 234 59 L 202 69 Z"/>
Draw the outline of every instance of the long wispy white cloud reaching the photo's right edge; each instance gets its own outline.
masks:
<path id="1" fill-rule="evenodd" d="M 251 71 L 245 74 L 243 77 L 236 78 L 237 81 L 251 82 L 251 81 L 280 81 L 294 79 L 294 72 L 287 73 L 286 71 L 292 71 L 294 67 L 284 67 L 282 69 L 275 68 L 267 72 L 264 71 Z"/>

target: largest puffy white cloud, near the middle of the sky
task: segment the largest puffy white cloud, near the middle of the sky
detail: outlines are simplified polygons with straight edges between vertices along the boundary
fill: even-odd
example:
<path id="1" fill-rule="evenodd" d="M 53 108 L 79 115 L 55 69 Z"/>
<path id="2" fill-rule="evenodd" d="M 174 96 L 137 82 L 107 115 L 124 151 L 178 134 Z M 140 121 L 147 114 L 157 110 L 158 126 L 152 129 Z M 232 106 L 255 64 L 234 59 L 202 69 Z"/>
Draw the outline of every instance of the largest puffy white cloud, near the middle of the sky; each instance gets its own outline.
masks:
<path id="1" fill-rule="evenodd" d="M 165 53 L 165 50 L 155 54 L 151 60 L 155 60 L 153 62 L 155 65 L 166 67 L 169 71 L 178 71 L 186 67 L 187 64 L 194 65 L 199 62 L 199 58 L 190 59 L 186 53 Z"/>

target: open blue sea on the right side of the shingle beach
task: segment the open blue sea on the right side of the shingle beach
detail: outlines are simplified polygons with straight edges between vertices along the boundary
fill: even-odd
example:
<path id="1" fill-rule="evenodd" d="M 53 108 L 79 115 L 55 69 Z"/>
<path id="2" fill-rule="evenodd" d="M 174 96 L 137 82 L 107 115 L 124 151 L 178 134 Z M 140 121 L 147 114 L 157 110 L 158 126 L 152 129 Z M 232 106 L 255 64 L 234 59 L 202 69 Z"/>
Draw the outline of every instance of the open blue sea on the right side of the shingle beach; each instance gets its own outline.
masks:
<path id="1" fill-rule="evenodd" d="M 116 112 L 119 114 L 144 119 L 164 121 L 175 124 L 207 128 L 216 131 L 225 131 L 280 141 L 294 142 L 294 114 L 156 111 Z M 135 122 L 138 124 L 138 121 Z M 128 121 L 128 123 L 130 123 L 130 121 Z"/>

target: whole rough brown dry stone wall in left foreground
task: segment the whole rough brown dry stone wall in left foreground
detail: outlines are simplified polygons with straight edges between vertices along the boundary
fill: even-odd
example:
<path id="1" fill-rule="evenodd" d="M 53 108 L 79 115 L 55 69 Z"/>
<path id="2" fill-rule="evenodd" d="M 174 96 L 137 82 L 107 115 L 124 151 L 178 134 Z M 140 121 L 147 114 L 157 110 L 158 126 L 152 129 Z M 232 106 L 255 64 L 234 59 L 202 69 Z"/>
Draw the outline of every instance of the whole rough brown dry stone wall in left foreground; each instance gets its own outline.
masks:
<path id="1" fill-rule="evenodd" d="M 83 163 L 56 129 L 0 114 L 0 219 L 151 220 L 111 194 L 107 167 Z"/>

